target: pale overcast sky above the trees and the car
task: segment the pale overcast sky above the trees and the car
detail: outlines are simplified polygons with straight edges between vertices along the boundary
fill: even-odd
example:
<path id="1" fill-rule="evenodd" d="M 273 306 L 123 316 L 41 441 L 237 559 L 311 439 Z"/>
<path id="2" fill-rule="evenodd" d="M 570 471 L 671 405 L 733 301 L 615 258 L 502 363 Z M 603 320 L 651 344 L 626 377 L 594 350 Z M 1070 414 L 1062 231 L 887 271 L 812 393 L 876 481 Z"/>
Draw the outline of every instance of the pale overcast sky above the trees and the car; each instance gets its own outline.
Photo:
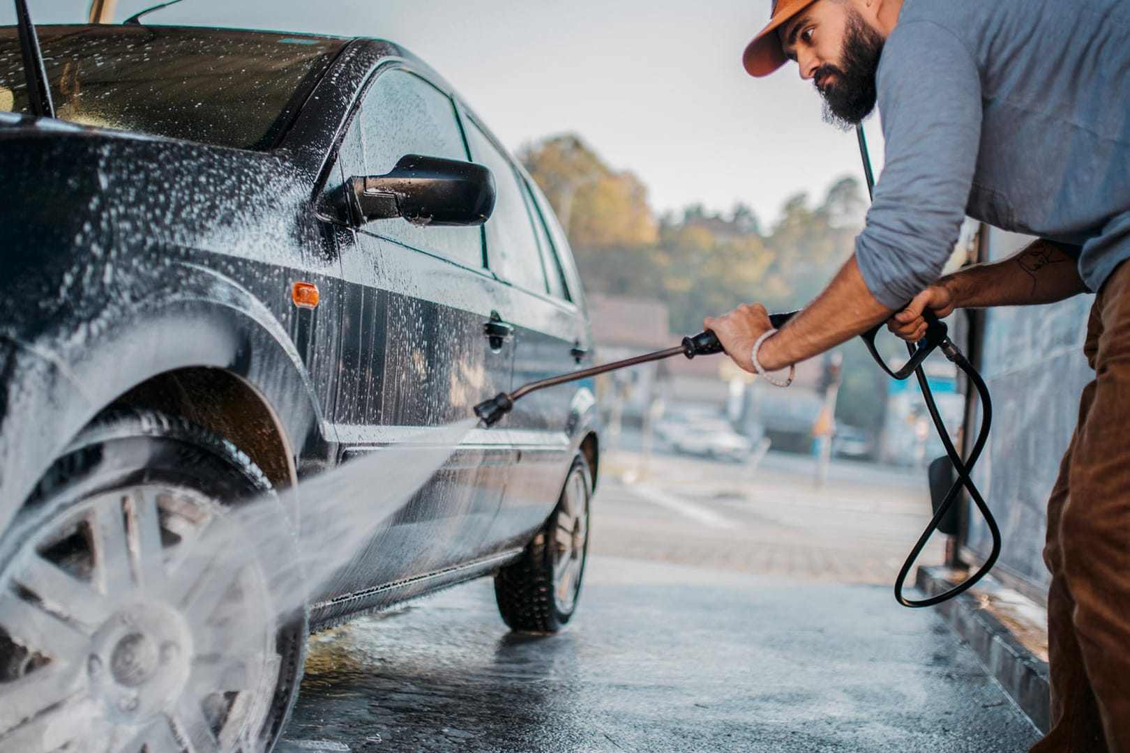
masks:
<path id="1" fill-rule="evenodd" d="M 120 21 L 156 0 L 118 0 Z M 85 21 L 89 0 L 29 0 L 37 23 Z M 438 70 L 506 145 L 581 135 L 640 176 L 662 212 L 741 201 L 763 224 L 784 200 L 814 201 L 861 176 L 853 134 L 820 119 L 790 63 L 767 79 L 741 68 L 770 0 L 183 0 L 150 23 L 392 40 Z M 0 0 L 0 23 L 14 23 Z M 881 152 L 877 122 L 868 128 Z M 875 155 L 876 163 L 881 154 Z"/>

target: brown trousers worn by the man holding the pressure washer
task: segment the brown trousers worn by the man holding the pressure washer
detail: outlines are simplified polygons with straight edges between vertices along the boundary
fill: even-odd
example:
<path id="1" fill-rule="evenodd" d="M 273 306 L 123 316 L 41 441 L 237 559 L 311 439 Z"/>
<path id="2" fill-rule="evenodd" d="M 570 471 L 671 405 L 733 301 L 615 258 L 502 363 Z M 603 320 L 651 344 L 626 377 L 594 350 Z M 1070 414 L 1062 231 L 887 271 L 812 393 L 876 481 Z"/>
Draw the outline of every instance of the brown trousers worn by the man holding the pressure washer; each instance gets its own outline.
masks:
<path id="1" fill-rule="evenodd" d="M 1095 379 L 1048 502 L 1052 729 L 1032 753 L 1130 753 L 1130 263 L 1084 352 Z"/>

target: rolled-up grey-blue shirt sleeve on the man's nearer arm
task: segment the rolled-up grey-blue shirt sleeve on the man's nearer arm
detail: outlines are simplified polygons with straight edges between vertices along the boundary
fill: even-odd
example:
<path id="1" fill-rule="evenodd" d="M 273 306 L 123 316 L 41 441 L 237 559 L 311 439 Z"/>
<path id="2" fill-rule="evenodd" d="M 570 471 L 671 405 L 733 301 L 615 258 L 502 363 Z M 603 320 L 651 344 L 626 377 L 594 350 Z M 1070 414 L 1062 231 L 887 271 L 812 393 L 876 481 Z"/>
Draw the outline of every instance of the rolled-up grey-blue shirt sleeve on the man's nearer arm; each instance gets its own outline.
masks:
<path id="1" fill-rule="evenodd" d="M 878 72 L 886 160 L 855 259 L 871 295 L 902 308 L 938 279 L 965 220 L 981 141 L 981 77 L 933 21 L 896 26 Z"/>

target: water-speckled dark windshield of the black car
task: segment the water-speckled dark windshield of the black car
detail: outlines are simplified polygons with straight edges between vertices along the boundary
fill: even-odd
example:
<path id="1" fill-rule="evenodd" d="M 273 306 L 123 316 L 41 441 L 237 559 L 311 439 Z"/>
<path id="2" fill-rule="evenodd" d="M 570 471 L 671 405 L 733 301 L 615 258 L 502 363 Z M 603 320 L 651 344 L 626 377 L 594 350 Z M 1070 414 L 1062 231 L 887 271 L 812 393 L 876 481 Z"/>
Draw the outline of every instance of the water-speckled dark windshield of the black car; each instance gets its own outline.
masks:
<path id="1" fill-rule="evenodd" d="M 41 26 L 55 115 L 270 149 L 345 40 L 162 26 Z M 0 112 L 29 113 L 16 27 L 0 27 Z"/>

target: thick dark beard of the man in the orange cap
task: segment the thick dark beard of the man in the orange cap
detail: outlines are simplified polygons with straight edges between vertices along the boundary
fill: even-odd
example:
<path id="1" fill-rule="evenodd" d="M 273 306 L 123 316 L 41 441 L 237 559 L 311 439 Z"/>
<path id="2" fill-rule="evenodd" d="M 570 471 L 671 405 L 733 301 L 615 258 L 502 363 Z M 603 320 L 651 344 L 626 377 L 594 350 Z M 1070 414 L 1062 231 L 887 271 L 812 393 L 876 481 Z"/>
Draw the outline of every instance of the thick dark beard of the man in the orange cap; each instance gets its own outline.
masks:
<path id="1" fill-rule="evenodd" d="M 855 10 L 847 16 L 847 32 L 844 37 L 843 68 L 831 63 L 820 65 L 816 81 L 832 75 L 835 81 L 819 88 L 824 97 L 824 121 L 849 131 L 863 122 L 878 98 L 875 77 L 883 55 L 883 36 L 867 25 Z"/>

